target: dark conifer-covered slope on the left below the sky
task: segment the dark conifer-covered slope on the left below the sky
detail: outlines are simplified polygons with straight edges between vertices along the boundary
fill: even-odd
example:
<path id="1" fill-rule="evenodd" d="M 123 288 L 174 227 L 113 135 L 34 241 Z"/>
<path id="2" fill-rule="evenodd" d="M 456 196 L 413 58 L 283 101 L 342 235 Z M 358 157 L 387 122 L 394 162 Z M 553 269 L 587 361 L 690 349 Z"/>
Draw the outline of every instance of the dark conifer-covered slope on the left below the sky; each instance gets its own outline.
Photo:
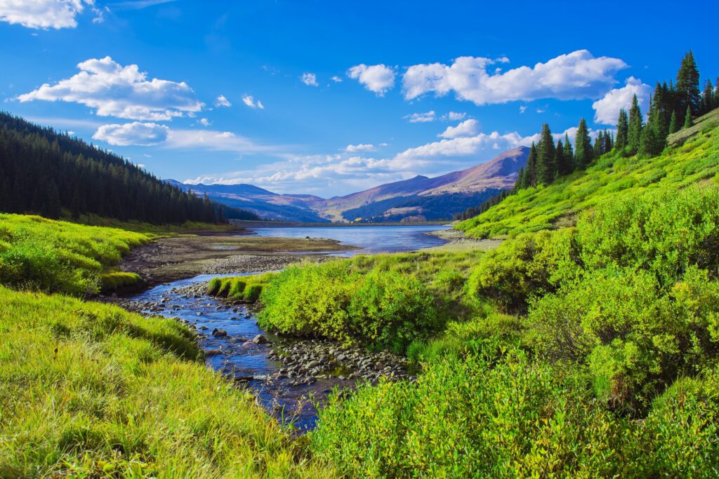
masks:
<path id="1" fill-rule="evenodd" d="M 68 134 L 0 112 L 0 211 L 57 219 L 93 213 L 147 223 L 258 219 L 169 185 Z"/>

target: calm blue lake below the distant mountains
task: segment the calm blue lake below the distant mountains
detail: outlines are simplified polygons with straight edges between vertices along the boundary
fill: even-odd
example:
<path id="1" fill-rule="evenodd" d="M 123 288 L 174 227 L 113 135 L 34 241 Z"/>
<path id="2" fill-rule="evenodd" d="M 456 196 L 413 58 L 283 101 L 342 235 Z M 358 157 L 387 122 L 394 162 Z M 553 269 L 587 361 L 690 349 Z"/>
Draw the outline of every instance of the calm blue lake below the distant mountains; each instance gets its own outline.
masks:
<path id="1" fill-rule="evenodd" d="M 431 231 L 449 229 L 445 225 L 422 226 L 318 226 L 304 228 L 251 228 L 259 236 L 283 238 L 332 238 L 343 244 L 361 249 L 343 251 L 336 256 L 356 254 L 399 253 L 431 246 L 440 246 L 445 240 L 428 235 Z"/>

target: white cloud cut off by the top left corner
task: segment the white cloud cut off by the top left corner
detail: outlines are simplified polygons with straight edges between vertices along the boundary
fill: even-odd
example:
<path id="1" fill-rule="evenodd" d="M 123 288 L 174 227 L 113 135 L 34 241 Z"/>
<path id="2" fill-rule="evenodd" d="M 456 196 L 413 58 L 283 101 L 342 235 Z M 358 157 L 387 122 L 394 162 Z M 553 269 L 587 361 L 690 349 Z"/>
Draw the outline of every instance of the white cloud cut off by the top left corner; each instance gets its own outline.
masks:
<path id="1" fill-rule="evenodd" d="M 39 29 L 75 28 L 78 14 L 93 4 L 93 0 L 0 0 L 0 22 Z"/>

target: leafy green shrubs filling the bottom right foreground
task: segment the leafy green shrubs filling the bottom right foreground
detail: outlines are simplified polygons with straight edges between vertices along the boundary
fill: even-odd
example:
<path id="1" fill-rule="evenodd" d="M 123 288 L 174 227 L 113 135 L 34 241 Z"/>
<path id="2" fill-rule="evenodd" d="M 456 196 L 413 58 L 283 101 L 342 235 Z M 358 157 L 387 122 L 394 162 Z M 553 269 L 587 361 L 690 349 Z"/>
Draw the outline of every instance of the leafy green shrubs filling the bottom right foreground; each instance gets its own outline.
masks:
<path id="1" fill-rule="evenodd" d="M 634 420 L 593 401 L 582 375 L 489 346 L 431 363 L 416 383 L 331 399 L 312 451 L 349 477 L 716 477 L 716 370 L 677 381 Z"/>

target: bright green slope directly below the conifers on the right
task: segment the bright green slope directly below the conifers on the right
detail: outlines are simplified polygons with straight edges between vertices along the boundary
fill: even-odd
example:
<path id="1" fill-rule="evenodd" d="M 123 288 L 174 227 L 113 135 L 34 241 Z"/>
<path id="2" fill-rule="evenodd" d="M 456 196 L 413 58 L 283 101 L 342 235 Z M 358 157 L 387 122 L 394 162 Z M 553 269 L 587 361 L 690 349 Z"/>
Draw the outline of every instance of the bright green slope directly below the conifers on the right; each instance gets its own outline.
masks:
<path id="1" fill-rule="evenodd" d="M 708 182 L 719 172 L 719 111 L 697 118 L 691 129 L 669 138 L 658 157 L 605 154 L 586 170 L 561 177 L 546 187 L 510 195 L 485 213 L 457 225 L 467 236 L 497 238 L 526 231 L 572 225 L 577 213 L 602 201 L 645 190 L 679 190 Z"/>

